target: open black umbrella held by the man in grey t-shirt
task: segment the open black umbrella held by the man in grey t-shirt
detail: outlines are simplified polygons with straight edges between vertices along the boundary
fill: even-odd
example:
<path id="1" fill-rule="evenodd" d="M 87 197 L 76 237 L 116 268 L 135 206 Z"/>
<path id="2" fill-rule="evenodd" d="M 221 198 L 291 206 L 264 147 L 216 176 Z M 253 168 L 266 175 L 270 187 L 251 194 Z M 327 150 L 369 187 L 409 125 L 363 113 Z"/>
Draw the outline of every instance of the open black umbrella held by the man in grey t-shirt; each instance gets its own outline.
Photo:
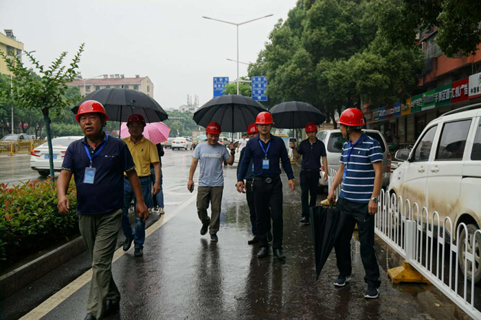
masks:
<path id="1" fill-rule="evenodd" d="M 256 100 L 243 95 L 221 95 L 205 103 L 194 113 L 194 121 L 203 126 L 217 122 L 227 133 L 247 131 L 249 124 L 256 122 L 256 116 L 267 111 Z"/>

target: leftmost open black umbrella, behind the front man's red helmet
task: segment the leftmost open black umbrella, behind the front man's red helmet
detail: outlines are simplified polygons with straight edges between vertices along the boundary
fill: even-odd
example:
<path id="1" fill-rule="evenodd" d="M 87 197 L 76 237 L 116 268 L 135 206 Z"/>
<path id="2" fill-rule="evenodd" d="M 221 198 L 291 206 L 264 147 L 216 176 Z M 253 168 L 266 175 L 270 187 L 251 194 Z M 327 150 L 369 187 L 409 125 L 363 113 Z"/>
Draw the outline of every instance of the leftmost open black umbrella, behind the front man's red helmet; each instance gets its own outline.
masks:
<path id="1" fill-rule="evenodd" d="M 166 111 L 157 101 L 136 90 L 109 88 L 94 91 L 78 102 L 71 111 L 77 113 L 80 104 L 86 100 L 96 100 L 103 104 L 109 120 L 112 121 L 126 122 L 133 113 L 142 115 L 148 123 L 168 119 Z"/>

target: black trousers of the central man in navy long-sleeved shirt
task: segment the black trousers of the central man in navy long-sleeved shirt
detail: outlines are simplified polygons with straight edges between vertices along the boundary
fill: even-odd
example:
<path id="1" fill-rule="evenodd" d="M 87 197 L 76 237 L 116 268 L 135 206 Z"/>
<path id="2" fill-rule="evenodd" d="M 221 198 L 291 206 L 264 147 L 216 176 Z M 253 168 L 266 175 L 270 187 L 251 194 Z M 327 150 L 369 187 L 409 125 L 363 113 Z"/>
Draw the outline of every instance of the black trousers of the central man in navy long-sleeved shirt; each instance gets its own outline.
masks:
<path id="1" fill-rule="evenodd" d="M 267 231 L 270 229 L 270 219 L 273 227 L 273 249 L 282 249 L 284 222 L 282 220 L 282 181 L 280 176 L 270 178 L 255 177 L 252 190 L 254 191 L 254 207 L 256 208 L 257 236 L 260 247 L 269 247 Z"/>

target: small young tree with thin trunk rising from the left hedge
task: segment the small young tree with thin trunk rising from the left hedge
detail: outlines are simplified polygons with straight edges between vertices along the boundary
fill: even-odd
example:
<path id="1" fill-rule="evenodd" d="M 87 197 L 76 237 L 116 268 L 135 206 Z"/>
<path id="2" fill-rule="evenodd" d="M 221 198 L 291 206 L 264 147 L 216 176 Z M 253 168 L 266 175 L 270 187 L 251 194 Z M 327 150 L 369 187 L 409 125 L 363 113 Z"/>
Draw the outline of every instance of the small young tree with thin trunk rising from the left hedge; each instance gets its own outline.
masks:
<path id="1" fill-rule="evenodd" d="M 83 50 L 84 44 L 82 43 L 69 67 L 62 65 L 63 59 L 67 56 L 67 52 L 63 52 L 48 68 L 41 65 L 32 54 L 25 52 L 34 69 L 38 71 L 40 78 L 36 76 L 34 70 L 24 67 L 19 57 L 10 58 L 4 52 L 0 52 L 0 56 L 7 62 L 8 69 L 15 76 L 12 94 L 10 95 L 9 88 L 3 85 L 0 87 L 0 97 L 22 108 L 40 109 L 47 131 L 50 176 L 52 177 L 54 176 L 54 161 L 52 157 L 52 132 L 50 130 L 51 117 L 60 115 L 67 106 L 74 105 L 75 101 L 67 98 L 65 93 L 69 89 L 67 83 L 72 82 L 78 74 L 78 62 Z"/>

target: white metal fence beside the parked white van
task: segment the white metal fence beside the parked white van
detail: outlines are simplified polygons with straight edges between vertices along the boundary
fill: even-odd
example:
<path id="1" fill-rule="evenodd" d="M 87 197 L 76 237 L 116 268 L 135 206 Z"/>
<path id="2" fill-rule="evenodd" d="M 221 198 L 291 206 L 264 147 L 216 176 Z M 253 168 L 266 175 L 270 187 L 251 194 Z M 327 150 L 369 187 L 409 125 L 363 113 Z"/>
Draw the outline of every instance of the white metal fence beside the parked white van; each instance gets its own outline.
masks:
<path id="1" fill-rule="evenodd" d="M 329 188 L 336 173 L 330 171 Z M 337 187 L 336 198 L 340 190 L 341 187 Z M 456 226 L 451 218 L 440 219 L 438 212 L 429 213 L 426 207 L 420 208 L 417 203 L 384 190 L 379 196 L 374 221 L 379 238 L 470 317 L 481 319 L 481 295 L 476 295 L 475 284 L 470 279 L 477 268 L 481 268 L 477 241 L 481 230 L 469 235 L 465 223 Z M 466 236 L 461 236 L 462 231 Z"/>

